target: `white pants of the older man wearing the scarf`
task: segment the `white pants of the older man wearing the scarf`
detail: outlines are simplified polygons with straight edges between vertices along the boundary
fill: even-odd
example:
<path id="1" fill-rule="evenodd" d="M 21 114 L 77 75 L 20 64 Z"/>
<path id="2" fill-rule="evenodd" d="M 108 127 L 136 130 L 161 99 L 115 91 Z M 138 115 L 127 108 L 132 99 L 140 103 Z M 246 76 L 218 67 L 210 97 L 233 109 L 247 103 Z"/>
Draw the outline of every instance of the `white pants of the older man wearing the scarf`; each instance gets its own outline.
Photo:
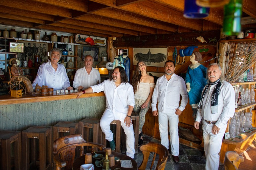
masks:
<path id="1" fill-rule="evenodd" d="M 203 121 L 203 137 L 204 137 L 204 150 L 206 156 L 206 170 L 218 170 L 219 168 L 219 152 L 222 144 L 222 138 L 227 128 L 220 129 L 219 133 L 214 135 L 212 133 L 213 124 L 208 124 Z"/>

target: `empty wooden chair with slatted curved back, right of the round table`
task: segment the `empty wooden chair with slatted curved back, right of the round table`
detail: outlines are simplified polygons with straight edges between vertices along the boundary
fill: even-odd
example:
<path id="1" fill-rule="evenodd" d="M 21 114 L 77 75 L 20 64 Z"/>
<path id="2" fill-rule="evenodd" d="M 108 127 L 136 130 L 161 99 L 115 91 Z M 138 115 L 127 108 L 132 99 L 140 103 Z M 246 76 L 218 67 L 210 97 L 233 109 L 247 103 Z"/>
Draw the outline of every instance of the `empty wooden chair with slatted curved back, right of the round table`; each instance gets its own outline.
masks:
<path id="1" fill-rule="evenodd" d="M 140 170 L 146 169 L 150 152 L 154 152 L 154 157 L 153 157 L 150 169 L 152 169 L 152 166 L 154 165 L 154 160 L 156 158 L 156 154 L 158 154 L 159 158 L 156 165 L 156 169 L 164 170 L 167 159 L 168 159 L 168 155 L 169 155 L 168 149 L 166 147 L 164 147 L 160 143 L 149 142 L 147 144 L 142 144 L 140 146 L 140 150 L 143 153 L 143 161 L 141 165 L 138 167 L 138 169 Z"/>

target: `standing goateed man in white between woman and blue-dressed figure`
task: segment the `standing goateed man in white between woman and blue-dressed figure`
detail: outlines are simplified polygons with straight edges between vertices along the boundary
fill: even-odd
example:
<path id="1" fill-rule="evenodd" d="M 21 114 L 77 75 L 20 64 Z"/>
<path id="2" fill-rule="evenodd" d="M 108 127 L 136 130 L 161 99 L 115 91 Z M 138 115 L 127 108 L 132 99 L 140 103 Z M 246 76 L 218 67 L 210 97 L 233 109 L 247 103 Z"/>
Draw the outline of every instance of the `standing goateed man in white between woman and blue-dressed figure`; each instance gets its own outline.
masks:
<path id="1" fill-rule="evenodd" d="M 158 78 L 152 95 L 152 111 L 158 116 L 161 144 L 169 149 L 168 120 L 171 138 L 171 150 L 174 162 L 179 162 L 179 115 L 187 105 L 187 88 L 185 81 L 174 74 L 175 63 L 168 60 L 164 64 L 165 75 Z M 181 95 L 181 104 L 179 106 Z M 158 101 L 158 111 L 156 103 Z M 159 112 L 159 113 L 158 113 Z"/>

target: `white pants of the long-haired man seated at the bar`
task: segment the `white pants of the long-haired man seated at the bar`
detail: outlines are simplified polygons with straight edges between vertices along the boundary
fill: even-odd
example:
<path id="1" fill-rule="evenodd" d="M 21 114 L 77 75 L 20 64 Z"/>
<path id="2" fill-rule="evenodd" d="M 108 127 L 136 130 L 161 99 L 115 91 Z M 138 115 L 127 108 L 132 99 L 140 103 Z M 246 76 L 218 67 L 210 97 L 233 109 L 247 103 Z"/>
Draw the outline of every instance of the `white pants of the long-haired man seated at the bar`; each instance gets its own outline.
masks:
<path id="1" fill-rule="evenodd" d="M 120 113 L 122 114 L 122 113 Z M 126 115 L 121 116 L 121 126 L 123 127 L 123 130 L 125 132 L 126 135 L 126 155 L 134 158 L 134 154 L 135 154 L 135 137 L 134 137 L 134 132 L 133 132 L 133 125 L 131 125 L 130 127 L 125 126 L 124 123 L 124 118 Z M 112 111 L 110 110 L 105 110 L 101 119 L 100 119 L 100 128 L 102 130 L 103 133 L 105 133 L 105 138 L 108 141 L 112 141 L 113 140 L 113 133 L 110 130 L 110 123 L 116 120 L 115 116 L 113 114 Z M 120 136 L 116 136 L 116 137 L 120 137 Z"/>

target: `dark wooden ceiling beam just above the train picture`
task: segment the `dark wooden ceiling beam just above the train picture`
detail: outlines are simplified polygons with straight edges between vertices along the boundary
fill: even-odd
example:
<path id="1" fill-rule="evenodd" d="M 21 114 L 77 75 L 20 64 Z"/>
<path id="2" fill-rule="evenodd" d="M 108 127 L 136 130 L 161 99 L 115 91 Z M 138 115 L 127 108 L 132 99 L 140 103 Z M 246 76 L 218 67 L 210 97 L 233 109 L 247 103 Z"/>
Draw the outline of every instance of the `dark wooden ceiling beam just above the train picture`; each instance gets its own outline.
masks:
<path id="1" fill-rule="evenodd" d="M 84 31 L 84 30 L 73 29 L 73 28 L 66 28 L 66 27 L 61 27 L 61 26 L 42 25 L 39 28 L 40 29 L 45 29 L 45 30 L 51 30 L 51 31 L 60 31 L 60 32 L 74 33 L 74 34 L 77 34 L 77 33 L 85 34 L 85 35 L 93 34 L 94 36 L 108 37 L 108 34 L 101 34 L 101 33 L 97 33 L 97 32 L 90 32 L 90 31 Z"/>

